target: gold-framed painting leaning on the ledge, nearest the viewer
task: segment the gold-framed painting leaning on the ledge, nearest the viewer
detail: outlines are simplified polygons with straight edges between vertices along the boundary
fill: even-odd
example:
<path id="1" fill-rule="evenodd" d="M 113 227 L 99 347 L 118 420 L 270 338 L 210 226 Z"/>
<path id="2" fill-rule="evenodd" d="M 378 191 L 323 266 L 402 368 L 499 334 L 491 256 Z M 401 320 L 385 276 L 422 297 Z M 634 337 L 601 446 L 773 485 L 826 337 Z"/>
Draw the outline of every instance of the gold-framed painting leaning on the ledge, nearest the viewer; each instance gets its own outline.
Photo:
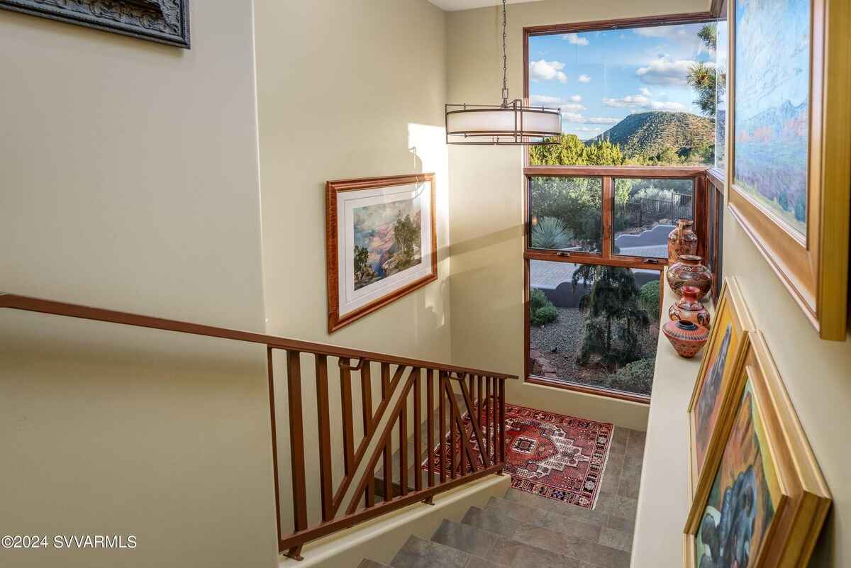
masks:
<path id="1" fill-rule="evenodd" d="M 831 495 L 759 332 L 745 332 L 722 452 L 688 514 L 687 568 L 805 568 Z"/>

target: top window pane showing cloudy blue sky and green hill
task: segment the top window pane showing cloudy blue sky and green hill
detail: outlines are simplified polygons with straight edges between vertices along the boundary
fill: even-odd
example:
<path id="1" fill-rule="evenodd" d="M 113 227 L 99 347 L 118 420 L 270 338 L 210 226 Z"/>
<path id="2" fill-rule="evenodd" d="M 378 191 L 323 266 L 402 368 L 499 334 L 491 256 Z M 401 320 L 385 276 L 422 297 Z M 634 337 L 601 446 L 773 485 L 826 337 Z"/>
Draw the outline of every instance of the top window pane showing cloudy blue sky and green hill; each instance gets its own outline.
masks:
<path id="1" fill-rule="evenodd" d="M 529 32 L 529 103 L 560 107 L 565 133 L 529 163 L 714 165 L 718 36 L 715 22 Z"/>

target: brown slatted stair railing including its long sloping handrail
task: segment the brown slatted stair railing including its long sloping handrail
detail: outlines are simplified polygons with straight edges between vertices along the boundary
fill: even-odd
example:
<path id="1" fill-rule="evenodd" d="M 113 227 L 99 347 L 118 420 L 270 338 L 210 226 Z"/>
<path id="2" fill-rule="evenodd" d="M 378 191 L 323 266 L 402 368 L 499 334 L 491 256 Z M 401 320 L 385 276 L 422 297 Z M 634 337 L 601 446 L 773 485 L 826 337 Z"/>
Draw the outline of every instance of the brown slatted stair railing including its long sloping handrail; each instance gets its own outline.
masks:
<path id="1" fill-rule="evenodd" d="M 306 542 L 374 519 L 488 474 L 501 474 L 505 463 L 505 380 L 516 375 L 444 365 L 359 349 L 316 344 L 186 321 L 103 310 L 42 298 L 0 293 L 0 308 L 105 321 L 134 327 L 266 345 L 271 409 L 272 464 L 275 480 L 278 550 L 301 559 Z M 275 412 L 275 350 L 286 355 L 290 471 L 294 531 L 283 534 Z M 308 519 L 305 412 L 302 396 L 303 357 L 313 358 L 318 436 L 319 520 Z M 332 421 L 328 357 L 335 358 L 340 378 L 342 479 L 334 488 Z M 309 359 L 308 359 L 309 361 Z M 357 361 L 352 364 L 352 361 Z M 379 371 L 380 400 L 373 408 L 373 366 Z M 407 374 L 406 374 L 407 373 Z M 352 386 L 359 378 L 363 438 L 355 444 Z M 425 397 L 423 396 L 425 390 Z M 457 395 L 456 395 L 457 390 Z M 435 397 L 437 396 L 437 409 Z M 425 401 L 424 401 L 425 398 Z M 463 404 L 459 404 L 458 398 Z M 425 406 L 424 406 L 425 405 Z M 408 456 L 408 408 L 414 438 Z M 425 423 L 422 413 L 426 413 Z M 437 414 L 437 421 L 435 415 Z M 436 423 L 437 422 L 437 423 Z M 425 426 L 424 426 L 425 424 Z M 311 422 L 312 426 L 312 422 Z M 437 426 L 437 431 L 435 427 Z M 426 429 L 425 462 L 421 429 Z M 393 432 L 397 431 L 399 483 L 393 484 Z M 437 434 L 437 440 L 435 435 Z M 439 451 L 435 452 L 436 447 Z M 381 465 L 379 466 L 379 463 Z M 420 464 L 424 464 L 420 466 Z M 412 480 L 408 466 L 413 467 Z M 376 502 L 375 472 L 383 472 L 383 491 Z M 424 479 L 425 478 L 425 479 Z M 352 487 L 354 489 L 352 490 Z"/>

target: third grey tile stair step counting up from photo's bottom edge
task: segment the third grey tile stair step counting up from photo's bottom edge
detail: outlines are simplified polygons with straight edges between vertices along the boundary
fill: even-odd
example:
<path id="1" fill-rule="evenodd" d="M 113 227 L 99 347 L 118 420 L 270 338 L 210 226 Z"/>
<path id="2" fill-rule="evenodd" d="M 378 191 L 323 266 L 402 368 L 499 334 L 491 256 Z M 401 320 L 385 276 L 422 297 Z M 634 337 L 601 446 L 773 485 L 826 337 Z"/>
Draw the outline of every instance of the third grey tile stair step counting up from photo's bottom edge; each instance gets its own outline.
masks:
<path id="1" fill-rule="evenodd" d="M 444 520 L 431 540 L 509 568 L 585 568 L 587 565 L 579 559 L 451 520 Z"/>

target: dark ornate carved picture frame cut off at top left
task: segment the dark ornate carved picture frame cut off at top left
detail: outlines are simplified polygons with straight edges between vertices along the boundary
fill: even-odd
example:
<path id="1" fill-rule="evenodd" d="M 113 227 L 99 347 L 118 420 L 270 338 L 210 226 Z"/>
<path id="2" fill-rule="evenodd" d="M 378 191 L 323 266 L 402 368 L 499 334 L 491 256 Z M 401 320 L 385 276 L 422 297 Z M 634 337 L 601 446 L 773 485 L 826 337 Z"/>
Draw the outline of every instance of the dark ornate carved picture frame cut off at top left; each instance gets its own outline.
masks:
<path id="1" fill-rule="evenodd" d="M 189 0 L 0 0 L 0 8 L 190 48 Z"/>

